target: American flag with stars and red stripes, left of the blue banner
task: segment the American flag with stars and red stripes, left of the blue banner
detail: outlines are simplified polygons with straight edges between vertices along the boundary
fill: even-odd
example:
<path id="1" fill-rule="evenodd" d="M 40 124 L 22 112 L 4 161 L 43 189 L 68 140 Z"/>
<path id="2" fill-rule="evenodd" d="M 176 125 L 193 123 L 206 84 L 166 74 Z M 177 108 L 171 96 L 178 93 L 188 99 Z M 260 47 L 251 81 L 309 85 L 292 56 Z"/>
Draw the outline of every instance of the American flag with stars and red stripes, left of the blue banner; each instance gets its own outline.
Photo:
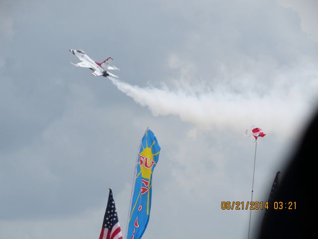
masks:
<path id="1" fill-rule="evenodd" d="M 111 189 L 109 189 L 108 202 L 99 239 L 123 239 Z"/>

